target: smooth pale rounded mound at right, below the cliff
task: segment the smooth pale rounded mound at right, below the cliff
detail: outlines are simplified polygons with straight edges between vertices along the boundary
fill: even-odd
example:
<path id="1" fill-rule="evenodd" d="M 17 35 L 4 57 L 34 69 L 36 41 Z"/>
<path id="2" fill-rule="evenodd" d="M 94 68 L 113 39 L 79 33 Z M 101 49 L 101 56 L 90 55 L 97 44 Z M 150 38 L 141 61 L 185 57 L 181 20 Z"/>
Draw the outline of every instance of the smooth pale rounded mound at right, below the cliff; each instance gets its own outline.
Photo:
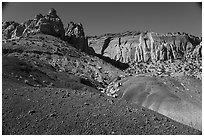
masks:
<path id="1" fill-rule="evenodd" d="M 129 77 L 118 81 L 107 93 L 114 91 L 127 102 L 137 104 L 161 113 L 175 121 L 202 130 L 202 99 L 192 88 L 201 87 L 201 81 L 187 78 L 180 82 L 171 77 L 151 76 Z M 190 82 L 193 86 L 188 85 Z"/>

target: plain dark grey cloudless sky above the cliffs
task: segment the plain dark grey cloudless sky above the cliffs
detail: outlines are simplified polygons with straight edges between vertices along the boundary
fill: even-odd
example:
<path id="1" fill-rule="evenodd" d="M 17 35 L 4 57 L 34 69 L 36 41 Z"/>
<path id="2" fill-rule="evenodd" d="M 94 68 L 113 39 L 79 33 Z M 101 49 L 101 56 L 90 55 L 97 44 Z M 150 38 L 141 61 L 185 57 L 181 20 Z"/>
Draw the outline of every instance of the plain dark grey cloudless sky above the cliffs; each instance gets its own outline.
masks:
<path id="1" fill-rule="evenodd" d="M 64 26 L 81 22 L 87 36 L 146 30 L 202 36 L 202 6 L 193 2 L 9 2 L 3 5 L 2 20 L 22 23 L 50 8 Z"/>

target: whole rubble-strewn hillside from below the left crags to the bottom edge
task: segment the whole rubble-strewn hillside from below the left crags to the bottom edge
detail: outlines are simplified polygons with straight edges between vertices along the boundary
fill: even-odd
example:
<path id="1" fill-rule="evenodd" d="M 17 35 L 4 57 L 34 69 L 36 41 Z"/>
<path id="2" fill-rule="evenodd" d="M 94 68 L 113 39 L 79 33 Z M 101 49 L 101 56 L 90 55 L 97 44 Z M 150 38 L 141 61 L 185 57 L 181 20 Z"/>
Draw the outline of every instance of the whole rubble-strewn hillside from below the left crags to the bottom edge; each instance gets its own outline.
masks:
<path id="1" fill-rule="evenodd" d="M 123 74 L 51 36 L 4 43 L 2 134 L 202 134 L 99 91 Z"/>

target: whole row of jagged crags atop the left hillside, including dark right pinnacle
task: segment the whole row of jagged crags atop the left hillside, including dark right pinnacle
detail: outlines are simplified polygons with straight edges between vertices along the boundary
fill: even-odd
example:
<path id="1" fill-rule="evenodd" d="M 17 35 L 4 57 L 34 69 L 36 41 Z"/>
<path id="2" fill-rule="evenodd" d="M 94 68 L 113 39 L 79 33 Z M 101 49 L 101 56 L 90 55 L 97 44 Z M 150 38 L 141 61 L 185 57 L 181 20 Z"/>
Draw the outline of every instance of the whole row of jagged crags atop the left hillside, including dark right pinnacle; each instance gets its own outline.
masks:
<path id="1" fill-rule="evenodd" d="M 49 10 L 47 15 L 38 14 L 34 19 L 27 20 L 22 24 L 14 21 L 4 22 L 2 30 L 4 41 L 43 33 L 61 38 L 77 49 L 94 54 L 94 50 L 88 47 L 88 39 L 85 36 L 82 24 L 70 22 L 64 29 L 61 19 L 53 8 Z"/>

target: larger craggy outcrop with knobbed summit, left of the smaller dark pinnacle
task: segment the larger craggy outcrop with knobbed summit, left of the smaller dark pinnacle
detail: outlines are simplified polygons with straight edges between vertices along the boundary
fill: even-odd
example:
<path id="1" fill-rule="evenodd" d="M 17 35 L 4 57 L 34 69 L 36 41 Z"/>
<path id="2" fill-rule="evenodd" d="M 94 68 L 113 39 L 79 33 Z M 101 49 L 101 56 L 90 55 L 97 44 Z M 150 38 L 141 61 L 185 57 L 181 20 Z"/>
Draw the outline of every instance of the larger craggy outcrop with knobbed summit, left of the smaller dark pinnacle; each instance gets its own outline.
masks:
<path id="1" fill-rule="evenodd" d="M 27 20 L 22 24 L 4 22 L 2 25 L 3 39 L 15 39 L 20 36 L 43 33 L 64 38 L 65 31 L 61 19 L 55 9 L 50 9 L 47 15 L 38 14 L 34 19 Z"/>

